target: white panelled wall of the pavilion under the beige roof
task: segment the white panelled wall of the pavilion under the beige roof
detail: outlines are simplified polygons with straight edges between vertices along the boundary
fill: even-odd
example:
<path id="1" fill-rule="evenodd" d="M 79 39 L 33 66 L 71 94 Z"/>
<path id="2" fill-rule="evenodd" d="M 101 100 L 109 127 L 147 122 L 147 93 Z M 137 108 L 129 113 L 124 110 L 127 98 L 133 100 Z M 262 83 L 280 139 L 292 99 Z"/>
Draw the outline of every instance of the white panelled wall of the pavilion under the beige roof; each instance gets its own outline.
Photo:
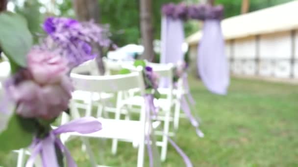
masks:
<path id="1" fill-rule="evenodd" d="M 298 79 L 298 30 L 295 34 L 294 77 Z M 258 46 L 257 46 L 258 43 Z M 246 37 L 225 41 L 225 53 L 230 70 L 238 75 L 259 75 L 263 77 L 290 78 L 292 73 L 291 31 Z M 197 46 L 192 45 L 190 55 L 193 64 L 197 62 Z M 257 63 L 259 59 L 259 63 Z"/>

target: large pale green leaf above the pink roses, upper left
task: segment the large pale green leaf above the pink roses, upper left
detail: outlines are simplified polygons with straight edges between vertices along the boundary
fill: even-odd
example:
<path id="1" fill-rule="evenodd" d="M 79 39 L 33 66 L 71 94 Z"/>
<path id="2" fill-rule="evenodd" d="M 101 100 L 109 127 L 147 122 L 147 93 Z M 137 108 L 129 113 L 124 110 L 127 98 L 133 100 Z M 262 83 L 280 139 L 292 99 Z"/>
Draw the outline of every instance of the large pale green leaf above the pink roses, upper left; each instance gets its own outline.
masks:
<path id="1" fill-rule="evenodd" d="M 0 48 L 10 62 L 26 67 L 26 55 L 32 46 L 32 35 L 27 22 L 11 12 L 0 13 Z"/>

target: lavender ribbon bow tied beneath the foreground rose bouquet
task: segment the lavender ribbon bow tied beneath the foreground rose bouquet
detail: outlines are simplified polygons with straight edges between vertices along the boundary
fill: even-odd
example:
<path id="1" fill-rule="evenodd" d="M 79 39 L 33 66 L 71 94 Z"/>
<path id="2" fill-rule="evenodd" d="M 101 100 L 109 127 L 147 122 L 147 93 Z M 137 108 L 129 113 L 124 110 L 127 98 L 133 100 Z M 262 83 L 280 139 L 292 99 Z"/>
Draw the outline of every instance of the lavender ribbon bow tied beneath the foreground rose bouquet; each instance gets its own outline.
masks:
<path id="1" fill-rule="evenodd" d="M 81 134 L 93 133 L 101 130 L 102 126 L 99 120 L 94 117 L 84 117 L 73 120 L 65 125 L 50 131 L 49 136 L 45 139 L 35 139 L 33 141 L 32 154 L 27 161 L 26 167 L 33 167 L 34 160 L 38 154 L 41 155 L 43 167 L 59 167 L 55 152 L 55 145 L 64 152 L 67 167 L 77 167 L 69 150 L 62 144 L 61 140 L 56 136 L 62 133 L 77 132 Z"/>

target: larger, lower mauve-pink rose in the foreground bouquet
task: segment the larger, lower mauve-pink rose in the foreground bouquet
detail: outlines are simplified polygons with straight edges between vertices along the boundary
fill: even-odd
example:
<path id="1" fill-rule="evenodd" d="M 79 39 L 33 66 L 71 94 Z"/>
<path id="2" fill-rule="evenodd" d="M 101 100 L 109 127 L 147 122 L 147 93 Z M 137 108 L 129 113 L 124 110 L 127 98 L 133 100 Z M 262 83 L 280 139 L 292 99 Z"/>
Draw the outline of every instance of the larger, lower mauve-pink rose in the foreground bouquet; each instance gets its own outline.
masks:
<path id="1" fill-rule="evenodd" d="M 25 118 L 53 119 L 68 108 L 72 84 L 64 76 L 60 84 L 40 86 L 32 80 L 8 87 L 11 98 L 18 104 L 17 113 Z"/>

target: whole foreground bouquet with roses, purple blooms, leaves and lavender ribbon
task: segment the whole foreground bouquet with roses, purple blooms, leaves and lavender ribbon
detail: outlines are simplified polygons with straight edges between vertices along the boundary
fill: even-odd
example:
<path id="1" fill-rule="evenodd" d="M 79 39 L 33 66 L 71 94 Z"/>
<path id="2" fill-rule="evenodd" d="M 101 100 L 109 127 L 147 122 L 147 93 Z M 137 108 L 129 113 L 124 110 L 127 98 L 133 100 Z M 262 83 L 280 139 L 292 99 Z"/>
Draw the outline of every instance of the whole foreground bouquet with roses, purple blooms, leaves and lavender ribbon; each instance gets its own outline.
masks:
<path id="1" fill-rule="evenodd" d="M 67 110 L 71 100 L 70 71 L 96 57 L 93 43 L 110 44 L 107 31 L 92 21 L 48 18 L 43 24 L 47 36 L 40 45 L 32 46 L 32 36 L 22 17 L 2 12 L 0 24 L 0 50 L 7 56 L 12 72 L 5 83 L 5 99 L 0 106 L 1 115 L 10 115 L 8 124 L 0 129 L 0 151 L 9 152 L 31 144 L 26 167 L 33 167 L 37 155 L 41 156 L 44 167 L 64 167 L 64 157 L 68 167 L 76 167 L 57 135 L 92 133 L 99 131 L 101 124 L 93 117 L 86 117 L 56 129 L 50 125 Z"/>

